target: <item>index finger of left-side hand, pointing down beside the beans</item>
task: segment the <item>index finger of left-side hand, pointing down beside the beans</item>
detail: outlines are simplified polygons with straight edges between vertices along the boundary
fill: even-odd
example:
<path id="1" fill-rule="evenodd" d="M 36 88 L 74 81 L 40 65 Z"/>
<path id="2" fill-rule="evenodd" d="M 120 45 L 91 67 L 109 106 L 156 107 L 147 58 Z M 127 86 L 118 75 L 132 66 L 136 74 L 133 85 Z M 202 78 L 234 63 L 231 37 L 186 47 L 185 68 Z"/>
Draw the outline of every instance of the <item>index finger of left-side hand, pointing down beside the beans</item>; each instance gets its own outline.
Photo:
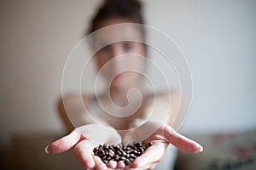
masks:
<path id="1" fill-rule="evenodd" d="M 91 152 L 91 144 L 88 140 L 82 140 L 74 148 L 75 156 L 83 163 L 85 168 L 92 169 L 95 167 L 95 161 Z"/>

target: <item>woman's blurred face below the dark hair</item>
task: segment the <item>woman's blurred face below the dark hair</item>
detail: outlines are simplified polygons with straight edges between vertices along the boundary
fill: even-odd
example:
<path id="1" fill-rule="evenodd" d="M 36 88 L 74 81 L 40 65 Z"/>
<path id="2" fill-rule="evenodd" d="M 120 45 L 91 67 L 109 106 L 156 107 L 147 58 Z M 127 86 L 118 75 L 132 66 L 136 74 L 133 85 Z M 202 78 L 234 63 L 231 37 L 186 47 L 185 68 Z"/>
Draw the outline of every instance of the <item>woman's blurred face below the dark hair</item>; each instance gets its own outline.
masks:
<path id="1" fill-rule="evenodd" d="M 140 77 L 138 71 L 143 71 L 146 50 L 143 43 L 136 42 L 143 41 L 141 30 L 127 24 L 112 26 L 128 22 L 123 19 L 106 20 L 100 27 L 111 28 L 96 32 L 94 37 L 94 47 L 98 49 L 98 70 L 116 90 L 136 88 Z"/>

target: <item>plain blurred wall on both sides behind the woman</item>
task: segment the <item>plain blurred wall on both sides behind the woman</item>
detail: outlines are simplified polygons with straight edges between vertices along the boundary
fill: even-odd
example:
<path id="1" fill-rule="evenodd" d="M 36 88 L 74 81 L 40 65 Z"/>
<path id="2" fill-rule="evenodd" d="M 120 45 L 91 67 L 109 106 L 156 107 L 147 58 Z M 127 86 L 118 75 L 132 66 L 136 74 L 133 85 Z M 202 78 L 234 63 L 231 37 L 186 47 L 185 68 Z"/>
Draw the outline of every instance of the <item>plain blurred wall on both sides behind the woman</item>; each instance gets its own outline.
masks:
<path id="1" fill-rule="evenodd" d="M 11 133 L 63 132 L 61 73 L 98 2 L 1 1 L 0 144 Z M 256 127 L 256 1 L 143 2 L 148 24 L 189 60 L 195 95 L 183 130 Z"/>

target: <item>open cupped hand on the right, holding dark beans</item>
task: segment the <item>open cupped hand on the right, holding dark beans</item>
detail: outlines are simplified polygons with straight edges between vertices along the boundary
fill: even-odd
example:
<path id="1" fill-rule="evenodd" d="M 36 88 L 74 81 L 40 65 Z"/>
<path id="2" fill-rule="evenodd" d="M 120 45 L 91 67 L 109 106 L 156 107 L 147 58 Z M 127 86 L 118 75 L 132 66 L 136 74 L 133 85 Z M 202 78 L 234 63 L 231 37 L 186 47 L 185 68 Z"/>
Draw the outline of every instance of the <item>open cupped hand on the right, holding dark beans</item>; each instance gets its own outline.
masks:
<path id="1" fill-rule="evenodd" d="M 153 133 L 152 133 L 153 132 Z M 148 137 L 145 137 L 148 133 Z M 152 134 L 150 134 L 152 133 Z M 125 143 L 132 141 L 143 141 L 149 144 L 142 156 L 138 156 L 126 169 L 153 169 L 157 162 L 165 155 L 169 144 L 175 145 L 178 149 L 189 153 L 198 153 L 203 150 L 200 144 L 177 133 L 171 126 L 160 125 L 156 122 L 146 122 L 140 127 L 129 130 L 124 136 Z"/>

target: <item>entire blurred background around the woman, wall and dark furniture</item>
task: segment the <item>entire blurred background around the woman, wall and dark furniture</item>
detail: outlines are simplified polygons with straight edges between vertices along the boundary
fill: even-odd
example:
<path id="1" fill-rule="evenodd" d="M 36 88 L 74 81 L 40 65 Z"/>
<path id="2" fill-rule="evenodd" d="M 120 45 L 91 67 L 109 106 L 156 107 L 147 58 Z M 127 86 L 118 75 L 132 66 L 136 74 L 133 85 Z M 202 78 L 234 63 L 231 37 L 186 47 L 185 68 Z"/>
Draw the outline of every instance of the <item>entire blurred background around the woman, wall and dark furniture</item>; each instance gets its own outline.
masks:
<path id="1" fill-rule="evenodd" d="M 1 167 L 81 167 L 72 152 L 46 156 L 44 147 L 67 133 L 56 111 L 61 74 L 101 2 L 0 1 Z M 179 151 L 176 168 L 255 169 L 256 1 L 143 3 L 147 24 L 177 42 L 194 80 L 192 107 L 179 132 L 205 151 Z"/>

